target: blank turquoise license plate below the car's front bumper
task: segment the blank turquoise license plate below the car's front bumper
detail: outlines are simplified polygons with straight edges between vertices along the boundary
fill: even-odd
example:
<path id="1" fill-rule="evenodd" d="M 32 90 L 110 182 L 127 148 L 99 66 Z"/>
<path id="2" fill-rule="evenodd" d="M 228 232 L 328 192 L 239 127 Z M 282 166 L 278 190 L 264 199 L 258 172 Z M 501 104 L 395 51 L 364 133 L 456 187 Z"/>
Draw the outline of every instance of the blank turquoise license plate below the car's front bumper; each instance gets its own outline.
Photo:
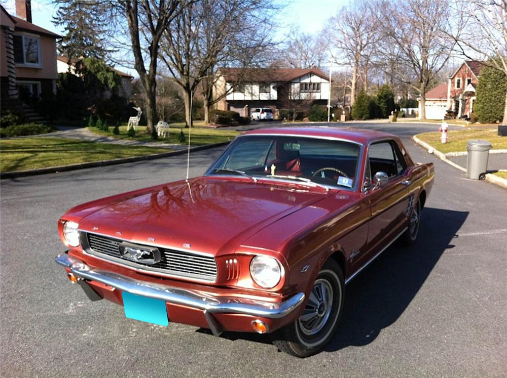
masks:
<path id="1" fill-rule="evenodd" d="M 122 292 L 125 316 L 148 323 L 167 325 L 167 307 L 159 299 L 141 297 L 130 292 Z"/>

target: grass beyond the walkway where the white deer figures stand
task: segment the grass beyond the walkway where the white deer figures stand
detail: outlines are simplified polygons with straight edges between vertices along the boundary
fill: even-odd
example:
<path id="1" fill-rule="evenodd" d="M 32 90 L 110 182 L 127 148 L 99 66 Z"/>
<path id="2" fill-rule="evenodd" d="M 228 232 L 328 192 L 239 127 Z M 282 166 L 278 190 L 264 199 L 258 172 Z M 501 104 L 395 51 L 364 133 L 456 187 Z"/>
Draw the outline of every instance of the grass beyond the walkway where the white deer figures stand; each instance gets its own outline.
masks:
<path id="1" fill-rule="evenodd" d="M 182 123 L 183 125 L 184 123 Z M 171 124 L 172 126 L 173 124 Z M 97 128 L 88 128 L 91 132 L 98 135 L 106 135 L 108 137 L 120 138 L 120 139 L 128 139 L 127 135 L 127 125 L 120 126 L 120 134 L 113 134 L 113 128 L 109 128 L 109 132 L 106 133 L 104 131 L 98 130 Z M 185 134 L 186 142 L 180 143 L 178 142 L 178 135 L 180 131 L 183 130 L 183 134 Z M 159 138 L 158 142 L 162 143 L 180 143 L 187 144 L 188 143 L 188 128 L 169 128 L 169 138 Z M 212 143 L 222 143 L 222 142 L 230 142 L 240 133 L 233 130 L 222 130 L 222 129 L 211 129 L 211 128 L 192 128 L 192 135 L 190 138 L 190 144 L 193 146 L 199 146 L 203 144 L 212 144 Z M 136 140 L 145 141 L 145 142 L 153 142 L 151 139 L 151 135 L 146 133 L 146 126 L 138 126 L 135 134 Z"/>

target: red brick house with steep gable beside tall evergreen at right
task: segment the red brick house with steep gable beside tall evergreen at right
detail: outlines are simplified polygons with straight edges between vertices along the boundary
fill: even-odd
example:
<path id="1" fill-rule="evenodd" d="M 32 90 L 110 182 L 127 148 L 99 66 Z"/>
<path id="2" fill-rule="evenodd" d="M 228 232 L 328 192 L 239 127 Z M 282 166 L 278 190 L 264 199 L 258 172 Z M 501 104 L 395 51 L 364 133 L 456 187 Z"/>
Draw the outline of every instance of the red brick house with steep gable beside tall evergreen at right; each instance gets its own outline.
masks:
<path id="1" fill-rule="evenodd" d="M 474 111 L 477 82 L 483 67 L 482 62 L 467 60 L 449 78 L 447 107 L 456 113 L 457 118 L 469 117 Z"/>

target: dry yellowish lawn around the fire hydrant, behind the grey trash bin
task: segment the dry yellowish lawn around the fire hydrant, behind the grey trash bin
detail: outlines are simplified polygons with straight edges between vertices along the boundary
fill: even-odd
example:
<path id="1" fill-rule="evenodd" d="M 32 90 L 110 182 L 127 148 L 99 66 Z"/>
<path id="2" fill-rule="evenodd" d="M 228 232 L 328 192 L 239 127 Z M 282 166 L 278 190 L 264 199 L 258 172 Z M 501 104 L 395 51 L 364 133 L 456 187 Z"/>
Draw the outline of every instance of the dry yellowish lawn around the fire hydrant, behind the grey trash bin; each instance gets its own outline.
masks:
<path id="1" fill-rule="evenodd" d="M 418 134 L 417 138 L 443 153 L 466 151 L 466 142 L 470 139 L 490 141 L 493 149 L 507 149 L 507 137 L 500 137 L 498 129 L 470 128 L 450 131 L 445 144 L 440 142 L 440 135 L 439 132 L 422 133 Z"/>

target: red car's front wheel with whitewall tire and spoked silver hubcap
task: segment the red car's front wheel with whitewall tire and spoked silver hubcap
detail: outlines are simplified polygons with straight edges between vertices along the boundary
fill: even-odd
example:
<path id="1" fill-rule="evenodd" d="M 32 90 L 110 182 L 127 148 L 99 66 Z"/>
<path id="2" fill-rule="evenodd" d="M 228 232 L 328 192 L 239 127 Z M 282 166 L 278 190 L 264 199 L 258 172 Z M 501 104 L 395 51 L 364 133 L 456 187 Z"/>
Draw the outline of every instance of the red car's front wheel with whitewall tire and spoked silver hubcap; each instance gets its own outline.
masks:
<path id="1" fill-rule="evenodd" d="M 329 343 L 338 326 L 344 301 L 343 272 L 332 259 L 320 270 L 303 314 L 294 323 L 272 334 L 273 344 L 282 352 L 308 357 Z"/>

